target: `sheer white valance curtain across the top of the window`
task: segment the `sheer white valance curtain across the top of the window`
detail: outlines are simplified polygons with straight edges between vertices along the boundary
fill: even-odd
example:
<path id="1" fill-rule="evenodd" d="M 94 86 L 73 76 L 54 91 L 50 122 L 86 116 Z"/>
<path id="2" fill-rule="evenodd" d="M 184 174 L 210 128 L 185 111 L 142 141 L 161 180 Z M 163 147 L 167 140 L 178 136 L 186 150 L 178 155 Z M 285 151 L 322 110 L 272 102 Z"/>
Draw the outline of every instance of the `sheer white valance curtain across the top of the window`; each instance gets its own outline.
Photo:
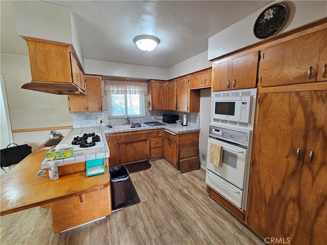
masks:
<path id="1" fill-rule="evenodd" d="M 105 80 L 105 94 L 147 94 L 147 83 Z"/>

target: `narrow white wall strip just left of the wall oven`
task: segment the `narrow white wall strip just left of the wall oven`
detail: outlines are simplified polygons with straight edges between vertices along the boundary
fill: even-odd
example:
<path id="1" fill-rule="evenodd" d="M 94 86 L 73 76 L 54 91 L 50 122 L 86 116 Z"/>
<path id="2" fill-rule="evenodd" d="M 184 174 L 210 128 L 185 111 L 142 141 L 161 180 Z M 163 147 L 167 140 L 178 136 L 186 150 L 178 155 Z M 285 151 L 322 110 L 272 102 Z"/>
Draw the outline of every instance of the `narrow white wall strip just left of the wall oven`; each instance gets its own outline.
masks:
<path id="1" fill-rule="evenodd" d="M 209 121 L 211 108 L 211 89 L 201 89 L 200 91 L 200 136 L 199 155 L 201 167 L 206 168 L 206 157 L 209 135 Z"/>

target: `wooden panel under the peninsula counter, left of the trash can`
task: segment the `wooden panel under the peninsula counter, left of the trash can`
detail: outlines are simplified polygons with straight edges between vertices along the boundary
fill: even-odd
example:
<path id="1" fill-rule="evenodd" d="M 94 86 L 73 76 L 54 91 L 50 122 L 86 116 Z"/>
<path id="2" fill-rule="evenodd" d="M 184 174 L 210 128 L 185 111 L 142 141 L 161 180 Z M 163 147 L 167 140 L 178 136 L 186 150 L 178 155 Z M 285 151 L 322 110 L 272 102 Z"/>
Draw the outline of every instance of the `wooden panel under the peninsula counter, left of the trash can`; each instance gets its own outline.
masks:
<path id="1" fill-rule="evenodd" d="M 50 206 L 54 232 L 71 229 L 111 214 L 110 185 L 78 197 L 53 202 Z"/>

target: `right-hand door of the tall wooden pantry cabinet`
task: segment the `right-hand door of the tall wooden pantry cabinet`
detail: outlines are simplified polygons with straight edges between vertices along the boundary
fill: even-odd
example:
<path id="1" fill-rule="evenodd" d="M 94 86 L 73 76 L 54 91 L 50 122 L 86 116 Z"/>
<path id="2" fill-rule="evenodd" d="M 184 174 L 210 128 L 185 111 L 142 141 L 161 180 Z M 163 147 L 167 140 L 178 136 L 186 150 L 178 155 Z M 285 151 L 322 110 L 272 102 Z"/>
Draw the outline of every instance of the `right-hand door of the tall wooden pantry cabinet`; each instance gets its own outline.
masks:
<path id="1" fill-rule="evenodd" d="M 324 244 L 327 230 L 327 91 L 315 91 L 300 183 L 293 244 Z M 312 151 L 311 161 L 309 159 Z"/>

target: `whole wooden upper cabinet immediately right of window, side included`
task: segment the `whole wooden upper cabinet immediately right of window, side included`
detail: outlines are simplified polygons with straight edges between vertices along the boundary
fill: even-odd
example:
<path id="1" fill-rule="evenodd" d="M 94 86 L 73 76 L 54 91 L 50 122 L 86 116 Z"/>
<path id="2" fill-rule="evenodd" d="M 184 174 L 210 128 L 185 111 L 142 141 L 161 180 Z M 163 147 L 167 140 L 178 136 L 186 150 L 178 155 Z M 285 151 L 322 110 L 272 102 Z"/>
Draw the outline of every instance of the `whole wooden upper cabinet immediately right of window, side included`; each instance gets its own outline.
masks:
<path id="1" fill-rule="evenodd" d="M 148 81 L 148 110 L 167 110 L 166 81 Z"/>

